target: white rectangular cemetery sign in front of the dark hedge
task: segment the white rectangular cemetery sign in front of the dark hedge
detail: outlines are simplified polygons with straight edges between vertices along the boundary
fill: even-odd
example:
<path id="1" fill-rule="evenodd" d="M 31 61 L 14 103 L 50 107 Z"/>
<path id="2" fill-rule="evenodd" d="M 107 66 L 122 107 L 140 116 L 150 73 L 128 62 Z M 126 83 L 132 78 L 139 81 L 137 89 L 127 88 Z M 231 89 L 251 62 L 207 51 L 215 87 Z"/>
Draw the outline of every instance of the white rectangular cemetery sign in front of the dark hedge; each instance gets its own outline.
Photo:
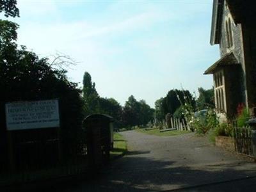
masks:
<path id="1" fill-rule="evenodd" d="M 10 102 L 5 113 L 8 131 L 60 127 L 58 100 Z"/>

